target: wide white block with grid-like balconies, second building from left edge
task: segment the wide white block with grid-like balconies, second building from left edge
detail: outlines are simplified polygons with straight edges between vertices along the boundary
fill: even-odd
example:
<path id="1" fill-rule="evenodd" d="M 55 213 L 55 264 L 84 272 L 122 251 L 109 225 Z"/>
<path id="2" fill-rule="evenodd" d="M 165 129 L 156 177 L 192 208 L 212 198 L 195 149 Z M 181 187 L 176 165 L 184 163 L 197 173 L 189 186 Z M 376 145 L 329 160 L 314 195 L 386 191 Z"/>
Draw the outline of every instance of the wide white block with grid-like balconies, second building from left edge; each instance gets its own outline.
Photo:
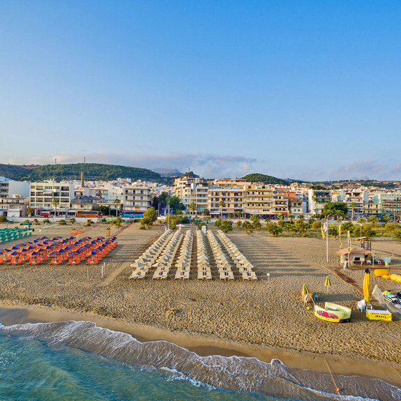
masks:
<path id="1" fill-rule="evenodd" d="M 40 214 L 40 211 L 65 214 L 70 209 L 74 197 L 75 187 L 72 183 L 56 181 L 31 183 L 29 206 L 36 211 L 36 214 Z"/>

